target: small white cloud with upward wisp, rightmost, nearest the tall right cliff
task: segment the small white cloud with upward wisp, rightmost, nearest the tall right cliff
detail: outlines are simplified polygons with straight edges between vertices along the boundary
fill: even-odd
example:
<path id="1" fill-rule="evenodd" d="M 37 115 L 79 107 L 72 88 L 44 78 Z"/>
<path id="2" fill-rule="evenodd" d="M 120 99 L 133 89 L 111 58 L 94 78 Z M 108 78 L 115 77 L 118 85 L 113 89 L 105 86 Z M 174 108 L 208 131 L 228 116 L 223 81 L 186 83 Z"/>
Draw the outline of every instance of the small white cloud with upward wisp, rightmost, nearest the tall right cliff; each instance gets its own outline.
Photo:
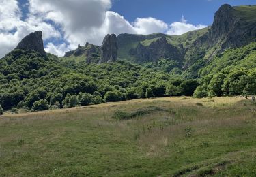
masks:
<path id="1" fill-rule="evenodd" d="M 203 29 L 203 28 L 207 27 L 205 25 L 192 25 L 187 22 L 188 21 L 184 18 L 184 16 L 182 16 L 181 22 L 173 22 L 171 25 L 169 25 L 167 34 L 182 35 L 184 33 L 187 33 L 188 31 Z"/>

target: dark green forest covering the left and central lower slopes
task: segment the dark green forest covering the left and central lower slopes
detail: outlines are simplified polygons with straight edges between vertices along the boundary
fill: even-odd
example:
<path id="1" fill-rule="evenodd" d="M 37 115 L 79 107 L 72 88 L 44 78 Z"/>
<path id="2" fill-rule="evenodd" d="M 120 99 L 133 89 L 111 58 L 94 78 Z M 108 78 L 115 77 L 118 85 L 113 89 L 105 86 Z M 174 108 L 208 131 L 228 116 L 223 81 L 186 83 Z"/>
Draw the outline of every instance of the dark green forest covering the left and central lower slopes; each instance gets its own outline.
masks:
<path id="1" fill-rule="evenodd" d="M 164 61 L 160 63 L 161 67 L 165 65 Z M 172 82 L 177 86 L 176 95 L 193 95 L 197 86 L 197 80 L 124 61 L 77 63 L 23 50 L 14 50 L 0 61 L 0 103 L 4 110 L 38 111 L 165 97 Z"/>

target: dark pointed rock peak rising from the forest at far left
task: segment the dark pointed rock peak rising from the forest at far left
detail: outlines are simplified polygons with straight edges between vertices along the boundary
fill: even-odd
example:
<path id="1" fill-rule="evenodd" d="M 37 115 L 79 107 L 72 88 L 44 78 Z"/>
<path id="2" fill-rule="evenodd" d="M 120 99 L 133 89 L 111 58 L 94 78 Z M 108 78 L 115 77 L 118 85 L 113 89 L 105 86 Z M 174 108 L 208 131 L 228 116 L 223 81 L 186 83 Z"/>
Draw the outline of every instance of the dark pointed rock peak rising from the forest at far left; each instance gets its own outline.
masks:
<path id="1" fill-rule="evenodd" d="M 44 42 L 42 40 L 42 31 L 35 31 L 33 33 L 30 33 L 26 37 L 24 37 L 20 43 L 18 43 L 18 46 L 16 49 L 21 50 L 34 50 L 35 52 L 38 52 L 42 54 L 43 56 L 46 55 L 46 52 L 44 51 Z"/>

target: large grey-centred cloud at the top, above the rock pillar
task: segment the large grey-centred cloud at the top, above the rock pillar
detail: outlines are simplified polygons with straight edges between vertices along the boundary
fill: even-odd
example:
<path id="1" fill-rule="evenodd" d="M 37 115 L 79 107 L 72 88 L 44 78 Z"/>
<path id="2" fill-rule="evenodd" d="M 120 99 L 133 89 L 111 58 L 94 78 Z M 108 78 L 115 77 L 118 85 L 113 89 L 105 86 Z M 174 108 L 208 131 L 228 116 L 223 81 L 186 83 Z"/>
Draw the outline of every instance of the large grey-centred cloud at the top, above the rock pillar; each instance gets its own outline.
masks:
<path id="1" fill-rule="evenodd" d="M 64 38 L 74 48 L 86 41 L 98 44 L 110 0 L 29 0 L 34 16 L 44 16 L 61 25 Z"/>

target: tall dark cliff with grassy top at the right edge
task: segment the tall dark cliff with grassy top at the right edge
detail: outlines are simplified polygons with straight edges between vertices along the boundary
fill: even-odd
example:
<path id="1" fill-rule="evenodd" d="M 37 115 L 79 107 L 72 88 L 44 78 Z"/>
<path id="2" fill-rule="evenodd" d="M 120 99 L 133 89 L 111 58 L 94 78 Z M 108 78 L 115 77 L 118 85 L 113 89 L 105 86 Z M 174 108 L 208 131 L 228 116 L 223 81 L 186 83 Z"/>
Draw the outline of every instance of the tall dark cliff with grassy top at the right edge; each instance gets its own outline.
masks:
<path id="1" fill-rule="evenodd" d="M 208 33 L 199 37 L 185 51 L 184 68 L 214 56 L 228 48 L 237 48 L 256 41 L 256 7 L 222 5 L 215 13 L 214 22 Z M 207 65 L 207 63 L 200 64 Z"/>

